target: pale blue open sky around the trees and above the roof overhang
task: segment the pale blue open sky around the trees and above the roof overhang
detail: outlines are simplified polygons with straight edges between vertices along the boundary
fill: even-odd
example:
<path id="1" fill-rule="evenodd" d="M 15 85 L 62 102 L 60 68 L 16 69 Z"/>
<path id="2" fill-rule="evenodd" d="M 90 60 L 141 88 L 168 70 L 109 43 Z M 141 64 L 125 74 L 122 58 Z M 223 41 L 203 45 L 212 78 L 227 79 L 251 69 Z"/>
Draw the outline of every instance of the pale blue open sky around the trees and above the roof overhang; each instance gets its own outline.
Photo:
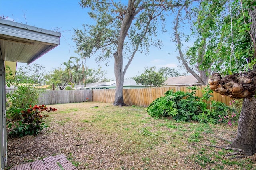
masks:
<path id="1" fill-rule="evenodd" d="M 79 57 L 74 53 L 76 47 L 72 41 L 73 30 L 82 28 L 82 24 L 90 23 L 90 18 L 87 14 L 88 10 L 82 9 L 78 2 L 78 0 L 0 0 L 0 15 L 8 16 L 8 19 L 14 20 L 14 22 L 54 30 L 62 34 L 58 47 L 34 61 L 34 63 L 43 65 L 46 71 L 50 72 L 54 68 L 63 67 L 62 63 L 68 61 L 70 57 Z M 175 43 L 171 42 L 169 34 L 164 34 L 161 37 L 164 42 L 162 49 L 152 47 L 147 56 L 137 53 L 126 72 L 125 79 L 140 75 L 145 67 L 179 69 L 178 65 L 181 64 L 176 59 L 178 52 Z M 111 59 L 106 67 L 104 63 L 96 63 L 91 57 L 86 59 L 86 65 L 95 69 L 100 65 L 102 70 L 107 71 L 106 78 L 115 79 L 114 59 Z M 180 71 L 180 73 L 183 72 Z"/>

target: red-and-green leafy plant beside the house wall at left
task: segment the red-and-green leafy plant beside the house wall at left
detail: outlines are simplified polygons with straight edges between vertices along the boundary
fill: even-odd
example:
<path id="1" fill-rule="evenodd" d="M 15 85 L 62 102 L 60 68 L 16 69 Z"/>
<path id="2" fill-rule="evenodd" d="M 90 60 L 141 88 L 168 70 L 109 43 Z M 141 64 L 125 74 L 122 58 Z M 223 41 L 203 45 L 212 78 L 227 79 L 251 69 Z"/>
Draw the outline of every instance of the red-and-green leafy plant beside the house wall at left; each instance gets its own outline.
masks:
<path id="1" fill-rule="evenodd" d="M 13 128 L 9 134 L 19 137 L 34 134 L 37 135 L 43 128 L 47 128 L 44 121 L 42 120 L 45 117 L 48 117 L 48 115 L 44 114 L 44 111 L 51 112 L 56 110 L 57 109 L 52 107 L 49 107 L 48 109 L 46 105 L 34 105 L 34 107 L 30 105 L 30 108 L 22 109 L 22 120 L 19 121 L 18 124 L 15 123 L 16 127 Z"/>

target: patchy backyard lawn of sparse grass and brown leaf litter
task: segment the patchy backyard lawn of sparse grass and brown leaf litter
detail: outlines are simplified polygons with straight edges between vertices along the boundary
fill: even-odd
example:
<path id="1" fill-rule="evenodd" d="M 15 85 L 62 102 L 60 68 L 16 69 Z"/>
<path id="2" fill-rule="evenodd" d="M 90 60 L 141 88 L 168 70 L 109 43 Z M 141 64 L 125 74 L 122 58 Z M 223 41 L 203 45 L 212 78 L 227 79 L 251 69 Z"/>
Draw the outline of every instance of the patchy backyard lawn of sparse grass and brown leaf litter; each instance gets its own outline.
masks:
<path id="1" fill-rule="evenodd" d="M 224 146 L 237 125 L 177 123 L 153 119 L 144 107 L 111 103 L 47 105 L 57 111 L 46 117 L 37 136 L 7 137 L 8 167 L 65 154 L 79 170 L 253 170 L 256 156 L 226 156 Z M 9 132 L 10 129 L 7 129 Z"/>

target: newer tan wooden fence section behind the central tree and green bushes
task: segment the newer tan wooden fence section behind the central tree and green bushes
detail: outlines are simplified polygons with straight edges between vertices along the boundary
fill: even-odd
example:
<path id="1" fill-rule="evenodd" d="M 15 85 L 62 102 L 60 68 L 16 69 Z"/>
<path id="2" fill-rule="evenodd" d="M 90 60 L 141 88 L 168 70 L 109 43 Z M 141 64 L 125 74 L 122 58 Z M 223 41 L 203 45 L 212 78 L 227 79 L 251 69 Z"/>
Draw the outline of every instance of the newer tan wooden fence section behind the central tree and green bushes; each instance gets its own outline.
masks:
<path id="1" fill-rule="evenodd" d="M 164 93 L 168 90 L 173 89 L 174 91 L 192 91 L 186 89 L 187 86 L 175 86 L 175 87 L 155 87 L 155 88 L 142 88 L 142 89 L 123 89 L 124 93 L 124 103 L 128 105 L 144 106 L 148 107 L 152 101 L 158 97 L 164 96 Z M 202 97 L 202 90 L 206 86 L 198 86 L 196 90 L 196 95 Z M 115 89 L 102 89 L 93 90 L 93 99 L 95 102 L 102 103 L 114 103 L 115 99 Z M 221 101 L 223 103 L 229 104 L 230 97 L 222 97 L 219 93 L 213 93 L 211 100 Z"/>

